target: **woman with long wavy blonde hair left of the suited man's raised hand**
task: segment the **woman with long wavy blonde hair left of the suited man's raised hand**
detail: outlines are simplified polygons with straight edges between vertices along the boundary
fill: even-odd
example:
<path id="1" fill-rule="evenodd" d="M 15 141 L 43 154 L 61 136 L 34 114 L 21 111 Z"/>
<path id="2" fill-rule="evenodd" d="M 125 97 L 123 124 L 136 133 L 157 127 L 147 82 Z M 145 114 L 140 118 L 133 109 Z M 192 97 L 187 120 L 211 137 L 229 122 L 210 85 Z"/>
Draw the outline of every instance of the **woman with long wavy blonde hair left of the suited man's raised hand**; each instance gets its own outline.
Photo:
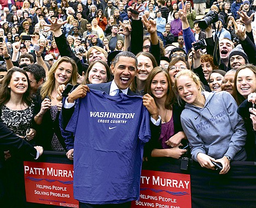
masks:
<path id="1" fill-rule="evenodd" d="M 57 100 L 56 90 L 61 84 L 77 84 L 77 64 L 69 57 L 61 57 L 49 71 L 46 82 L 40 89 L 41 108 L 34 120 L 40 125 L 39 144 L 45 150 L 65 151 L 66 145 L 61 136 L 59 114 L 62 107 Z M 46 131 L 45 131 L 46 130 Z"/>

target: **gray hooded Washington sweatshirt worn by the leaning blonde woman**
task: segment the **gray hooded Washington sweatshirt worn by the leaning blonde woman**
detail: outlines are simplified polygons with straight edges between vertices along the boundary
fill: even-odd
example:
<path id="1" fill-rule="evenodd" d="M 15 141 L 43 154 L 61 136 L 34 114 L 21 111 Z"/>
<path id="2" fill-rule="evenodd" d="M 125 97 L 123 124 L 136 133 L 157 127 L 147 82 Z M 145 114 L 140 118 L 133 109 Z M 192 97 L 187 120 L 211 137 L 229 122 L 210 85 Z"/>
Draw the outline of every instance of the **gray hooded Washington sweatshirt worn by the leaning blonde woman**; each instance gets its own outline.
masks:
<path id="1" fill-rule="evenodd" d="M 202 93 L 206 102 L 203 108 L 186 103 L 181 123 L 188 137 L 193 160 L 202 152 L 216 160 L 227 155 L 234 161 L 246 160 L 243 146 L 246 130 L 243 119 L 237 114 L 237 105 L 226 91 Z"/>

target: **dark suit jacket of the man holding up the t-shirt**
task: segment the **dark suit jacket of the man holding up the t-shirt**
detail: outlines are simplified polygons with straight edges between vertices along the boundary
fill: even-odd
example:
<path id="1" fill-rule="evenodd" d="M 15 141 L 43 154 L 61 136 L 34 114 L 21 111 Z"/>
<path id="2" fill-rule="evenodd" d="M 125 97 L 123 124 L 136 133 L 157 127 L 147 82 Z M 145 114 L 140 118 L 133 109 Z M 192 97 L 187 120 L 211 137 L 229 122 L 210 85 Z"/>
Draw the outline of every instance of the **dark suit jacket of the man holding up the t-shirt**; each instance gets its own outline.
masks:
<path id="1" fill-rule="evenodd" d="M 108 82 L 108 83 L 102 83 L 102 84 L 88 84 L 88 87 L 91 88 L 91 89 L 104 91 L 105 93 L 109 94 L 110 85 L 111 85 L 111 82 Z M 127 91 L 127 95 L 135 96 L 136 94 L 133 93 L 133 91 L 131 91 L 130 88 L 129 88 L 128 91 Z M 64 103 L 64 102 L 65 101 L 63 101 L 62 103 Z M 73 112 L 74 112 L 74 107 L 69 108 L 69 109 L 62 107 L 62 126 L 63 126 L 63 129 L 66 129 L 66 126 L 67 126 L 69 120 L 71 119 Z M 150 130 L 151 130 L 151 138 L 158 139 L 160 137 L 161 125 L 156 126 L 152 122 L 150 122 Z"/>

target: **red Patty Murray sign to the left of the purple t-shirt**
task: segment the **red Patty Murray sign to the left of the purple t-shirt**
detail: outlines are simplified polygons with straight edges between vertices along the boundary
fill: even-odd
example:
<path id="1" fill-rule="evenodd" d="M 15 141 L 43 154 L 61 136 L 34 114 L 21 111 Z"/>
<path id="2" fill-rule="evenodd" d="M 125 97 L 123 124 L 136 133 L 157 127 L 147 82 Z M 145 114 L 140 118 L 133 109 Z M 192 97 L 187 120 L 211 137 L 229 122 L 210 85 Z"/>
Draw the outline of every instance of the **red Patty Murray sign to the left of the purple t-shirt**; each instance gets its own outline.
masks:
<path id="1" fill-rule="evenodd" d="M 73 165 L 24 162 L 27 202 L 78 207 L 73 197 Z"/>

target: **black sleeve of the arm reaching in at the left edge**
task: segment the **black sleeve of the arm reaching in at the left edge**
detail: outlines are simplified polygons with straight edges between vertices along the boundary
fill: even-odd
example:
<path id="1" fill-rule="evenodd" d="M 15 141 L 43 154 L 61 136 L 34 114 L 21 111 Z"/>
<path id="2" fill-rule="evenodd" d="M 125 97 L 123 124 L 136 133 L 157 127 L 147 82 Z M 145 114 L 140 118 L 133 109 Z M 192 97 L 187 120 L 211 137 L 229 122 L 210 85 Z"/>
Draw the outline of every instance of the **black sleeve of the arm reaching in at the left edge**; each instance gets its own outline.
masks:
<path id="1" fill-rule="evenodd" d="M 36 158 L 37 150 L 24 139 L 11 132 L 0 119 L 0 146 L 1 149 L 18 151 L 19 155 L 25 158 Z"/>

